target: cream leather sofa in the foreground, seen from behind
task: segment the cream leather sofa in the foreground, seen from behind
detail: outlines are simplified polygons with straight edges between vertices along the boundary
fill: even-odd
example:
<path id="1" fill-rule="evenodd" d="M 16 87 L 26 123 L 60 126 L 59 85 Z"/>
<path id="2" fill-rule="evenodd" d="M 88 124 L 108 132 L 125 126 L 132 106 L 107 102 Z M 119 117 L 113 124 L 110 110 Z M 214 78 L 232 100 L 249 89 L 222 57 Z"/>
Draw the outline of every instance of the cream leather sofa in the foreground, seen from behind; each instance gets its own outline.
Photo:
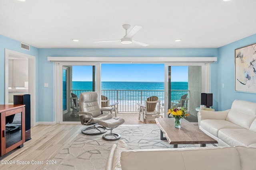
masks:
<path id="1" fill-rule="evenodd" d="M 129 150 L 120 140 L 105 170 L 255 170 L 256 148 L 192 147 Z"/>

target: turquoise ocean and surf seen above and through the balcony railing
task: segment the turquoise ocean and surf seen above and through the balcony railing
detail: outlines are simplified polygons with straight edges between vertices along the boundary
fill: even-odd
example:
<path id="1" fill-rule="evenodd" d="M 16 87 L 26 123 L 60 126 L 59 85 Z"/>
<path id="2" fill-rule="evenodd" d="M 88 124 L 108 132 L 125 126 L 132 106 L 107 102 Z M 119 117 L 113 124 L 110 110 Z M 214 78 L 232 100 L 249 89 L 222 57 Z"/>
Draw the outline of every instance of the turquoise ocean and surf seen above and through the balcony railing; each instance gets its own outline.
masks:
<path id="1" fill-rule="evenodd" d="M 176 91 L 172 91 L 171 101 L 179 100 L 183 94 L 187 94 L 188 82 L 171 82 L 171 88 L 185 90 L 178 95 Z M 92 90 L 92 82 L 73 81 L 72 90 L 79 97 L 80 92 Z M 120 105 L 136 105 L 138 102 L 144 102 L 149 96 L 158 96 L 161 104 L 164 103 L 164 82 L 101 82 L 101 90 L 110 103 L 118 101 Z M 66 95 L 66 92 L 63 95 Z"/>

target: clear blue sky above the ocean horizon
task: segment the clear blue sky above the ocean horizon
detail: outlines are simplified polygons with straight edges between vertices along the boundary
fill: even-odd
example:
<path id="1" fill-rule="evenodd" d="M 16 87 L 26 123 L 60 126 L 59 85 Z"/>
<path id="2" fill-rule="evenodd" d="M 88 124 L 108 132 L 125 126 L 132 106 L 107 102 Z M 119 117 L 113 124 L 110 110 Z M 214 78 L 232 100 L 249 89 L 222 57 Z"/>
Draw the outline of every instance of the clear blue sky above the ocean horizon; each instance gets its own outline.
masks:
<path id="1" fill-rule="evenodd" d="M 172 66 L 172 82 L 188 81 L 188 66 Z M 72 81 L 92 81 L 92 66 L 73 66 Z M 101 64 L 103 82 L 164 82 L 164 64 Z"/>

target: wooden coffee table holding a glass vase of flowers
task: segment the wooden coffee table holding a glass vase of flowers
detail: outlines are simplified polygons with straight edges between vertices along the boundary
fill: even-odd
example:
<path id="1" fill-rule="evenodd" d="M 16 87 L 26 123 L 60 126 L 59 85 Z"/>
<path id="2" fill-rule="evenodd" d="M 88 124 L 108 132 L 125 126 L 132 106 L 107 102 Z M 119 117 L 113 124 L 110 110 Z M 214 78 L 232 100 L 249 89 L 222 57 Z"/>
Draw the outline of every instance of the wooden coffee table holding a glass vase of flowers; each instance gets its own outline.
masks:
<path id="1" fill-rule="evenodd" d="M 205 147 L 208 143 L 218 143 L 185 119 L 181 120 L 181 128 L 174 127 L 174 118 L 156 118 L 155 120 L 160 128 L 160 139 L 167 139 L 174 148 L 177 148 L 178 144 L 201 144 L 201 147 Z"/>

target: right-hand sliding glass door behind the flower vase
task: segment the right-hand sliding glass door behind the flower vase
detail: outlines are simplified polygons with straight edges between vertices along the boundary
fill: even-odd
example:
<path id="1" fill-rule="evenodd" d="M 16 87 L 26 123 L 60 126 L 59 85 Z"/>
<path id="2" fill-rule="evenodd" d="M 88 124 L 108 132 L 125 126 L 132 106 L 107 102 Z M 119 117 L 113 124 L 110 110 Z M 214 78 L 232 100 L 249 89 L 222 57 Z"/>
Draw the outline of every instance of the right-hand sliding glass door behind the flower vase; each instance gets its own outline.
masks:
<path id="1" fill-rule="evenodd" d="M 166 64 L 166 104 L 168 108 L 184 107 L 190 114 L 186 119 L 197 122 L 196 107 L 201 104 L 201 93 L 205 91 L 204 64 Z"/>

